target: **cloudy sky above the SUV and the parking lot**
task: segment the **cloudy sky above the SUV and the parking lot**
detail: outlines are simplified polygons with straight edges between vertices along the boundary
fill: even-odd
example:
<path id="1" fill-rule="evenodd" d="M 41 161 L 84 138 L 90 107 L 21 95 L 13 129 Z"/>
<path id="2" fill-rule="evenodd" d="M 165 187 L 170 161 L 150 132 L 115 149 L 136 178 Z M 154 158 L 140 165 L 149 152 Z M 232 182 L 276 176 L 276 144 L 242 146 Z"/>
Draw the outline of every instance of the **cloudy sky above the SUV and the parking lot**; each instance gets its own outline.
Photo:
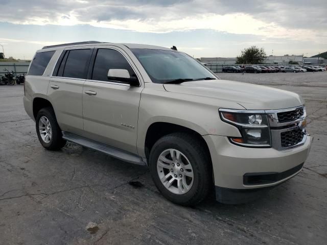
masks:
<path id="1" fill-rule="evenodd" d="M 0 0 L 6 57 L 44 45 L 97 40 L 177 46 L 196 58 L 327 51 L 326 0 Z M 1 46 L 0 46 L 1 50 Z"/>

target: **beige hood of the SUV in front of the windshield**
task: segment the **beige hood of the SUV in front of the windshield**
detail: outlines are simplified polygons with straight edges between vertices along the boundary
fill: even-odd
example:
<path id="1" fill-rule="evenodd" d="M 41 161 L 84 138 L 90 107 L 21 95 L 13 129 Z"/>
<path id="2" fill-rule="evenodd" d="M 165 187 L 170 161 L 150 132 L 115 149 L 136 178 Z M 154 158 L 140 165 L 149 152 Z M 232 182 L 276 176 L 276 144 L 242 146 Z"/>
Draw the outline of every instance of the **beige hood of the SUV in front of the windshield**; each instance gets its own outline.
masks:
<path id="1" fill-rule="evenodd" d="M 202 80 L 181 84 L 164 84 L 164 87 L 169 92 L 233 101 L 247 110 L 275 110 L 304 104 L 301 96 L 293 92 L 228 80 Z"/>

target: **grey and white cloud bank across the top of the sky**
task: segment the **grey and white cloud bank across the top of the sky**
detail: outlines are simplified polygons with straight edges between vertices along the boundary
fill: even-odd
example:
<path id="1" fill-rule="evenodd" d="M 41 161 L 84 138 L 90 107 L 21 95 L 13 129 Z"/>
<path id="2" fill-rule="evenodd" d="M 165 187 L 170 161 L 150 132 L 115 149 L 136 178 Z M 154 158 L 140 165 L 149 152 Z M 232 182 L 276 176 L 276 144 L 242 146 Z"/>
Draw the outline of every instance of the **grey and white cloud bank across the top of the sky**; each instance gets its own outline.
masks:
<path id="1" fill-rule="evenodd" d="M 0 21 L 167 33 L 212 29 L 263 38 L 326 42 L 327 1 L 0 0 Z"/>

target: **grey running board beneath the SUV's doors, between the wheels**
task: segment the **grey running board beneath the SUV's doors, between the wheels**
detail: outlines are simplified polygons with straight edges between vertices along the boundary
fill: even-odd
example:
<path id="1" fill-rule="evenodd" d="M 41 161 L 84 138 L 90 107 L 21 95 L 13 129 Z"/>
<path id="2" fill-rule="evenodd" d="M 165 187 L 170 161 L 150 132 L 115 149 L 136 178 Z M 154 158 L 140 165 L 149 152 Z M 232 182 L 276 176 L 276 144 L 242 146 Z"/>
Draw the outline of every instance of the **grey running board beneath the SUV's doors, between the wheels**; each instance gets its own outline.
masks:
<path id="1" fill-rule="evenodd" d="M 130 162 L 130 163 L 134 163 L 134 164 L 138 164 L 138 165 L 147 165 L 144 161 L 142 157 L 137 156 L 136 154 L 133 153 L 129 153 L 129 152 L 125 152 L 122 150 L 119 150 L 117 148 L 114 148 L 112 146 L 109 146 L 107 144 L 104 143 L 100 143 L 97 142 L 95 140 L 91 140 L 91 139 L 87 139 L 84 138 L 82 136 L 73 134 L 73 133 L 69 133 L 69 132 L 65 132 L 62 131 L 62 138 L 83 145 L 87 148 L 105 153 L 111 157 L 126 161 L 126 162 Z"/>

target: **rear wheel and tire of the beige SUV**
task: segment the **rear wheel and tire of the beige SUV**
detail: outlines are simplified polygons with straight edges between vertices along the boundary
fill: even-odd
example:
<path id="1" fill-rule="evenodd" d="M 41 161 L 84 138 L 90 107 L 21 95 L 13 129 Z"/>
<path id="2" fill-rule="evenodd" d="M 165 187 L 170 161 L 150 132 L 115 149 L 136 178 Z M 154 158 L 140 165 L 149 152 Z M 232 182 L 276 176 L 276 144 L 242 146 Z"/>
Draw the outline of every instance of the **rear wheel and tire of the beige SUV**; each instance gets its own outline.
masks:
<path id="1" fill-rule="evenodd" d="M 48 127 L 48 121 L 50 127 Z M 36 116 L 35 126 L 37 137 L 45 149 L 51 151 L 60 150 L 66 144 L 66 140 L 62 138 L 61 129 L 58 125 L 56 115 L 52 107 L 46 107 L 39 110 Z M 40 128 L 43 126 L 45 126 L 44 129 Z M 43 132 L 47 131 L 48 137 L 46 137 L 47 133 L 41 134 L 40 130 Z"/>

